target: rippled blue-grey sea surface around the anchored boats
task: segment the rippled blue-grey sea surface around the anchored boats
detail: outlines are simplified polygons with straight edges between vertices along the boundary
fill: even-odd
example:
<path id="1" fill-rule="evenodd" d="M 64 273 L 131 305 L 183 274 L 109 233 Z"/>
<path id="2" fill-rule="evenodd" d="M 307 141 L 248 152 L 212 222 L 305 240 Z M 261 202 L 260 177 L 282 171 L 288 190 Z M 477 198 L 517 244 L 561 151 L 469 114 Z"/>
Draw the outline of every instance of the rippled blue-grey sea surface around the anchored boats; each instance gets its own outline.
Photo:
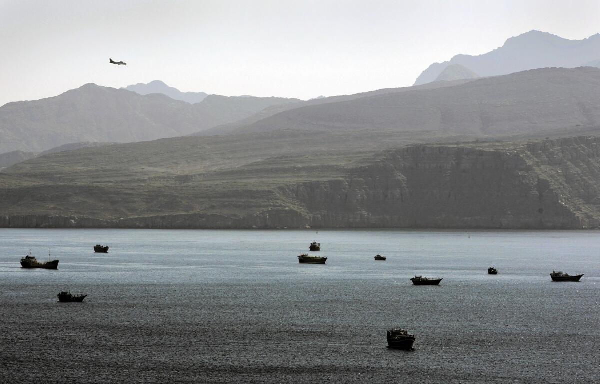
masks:
<path id="1" fill-rule="evenodd" d="M 313 240 L 327 265 L 298 263 Z M 20 268 L 48 247 L 58 271 Z M 2 229 L 0 383 L 598 382 L 599 254 L 600 232 Z"/>

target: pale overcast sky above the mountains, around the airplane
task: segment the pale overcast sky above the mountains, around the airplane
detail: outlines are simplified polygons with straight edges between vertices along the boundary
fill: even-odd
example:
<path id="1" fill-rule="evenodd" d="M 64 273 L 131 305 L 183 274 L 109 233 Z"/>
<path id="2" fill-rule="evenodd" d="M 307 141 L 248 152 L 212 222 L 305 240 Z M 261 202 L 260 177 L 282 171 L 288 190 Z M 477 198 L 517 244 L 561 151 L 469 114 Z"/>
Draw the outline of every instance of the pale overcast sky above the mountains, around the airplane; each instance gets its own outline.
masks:
<path id="1" fill-rule="evenodd" d="M 397 88 L 532 29 L 590 37 L 600 1 L 0 0 L 0 106 L 152 80 L 304 100 Z"/>

